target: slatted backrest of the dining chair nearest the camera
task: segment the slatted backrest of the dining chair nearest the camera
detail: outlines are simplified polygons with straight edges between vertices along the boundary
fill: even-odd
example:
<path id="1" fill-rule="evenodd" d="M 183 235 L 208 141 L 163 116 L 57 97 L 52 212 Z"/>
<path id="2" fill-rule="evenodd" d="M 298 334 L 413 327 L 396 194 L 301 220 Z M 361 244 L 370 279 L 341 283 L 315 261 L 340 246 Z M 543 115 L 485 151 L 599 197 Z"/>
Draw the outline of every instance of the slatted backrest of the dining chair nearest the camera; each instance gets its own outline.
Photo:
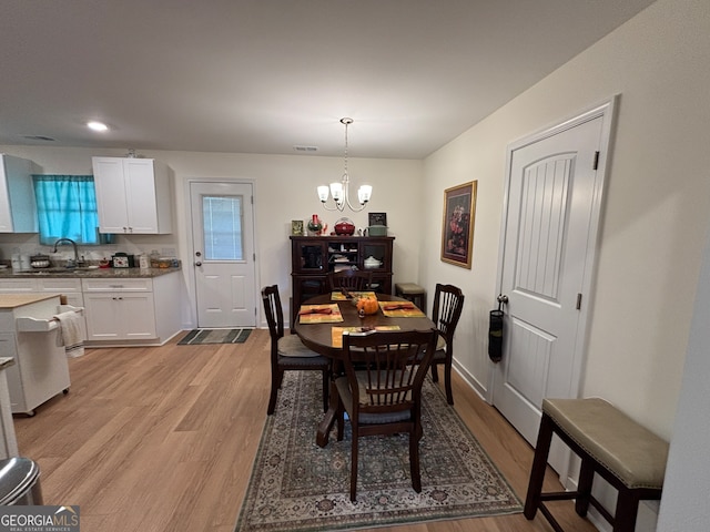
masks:
<path id="1" fill-rule="evenodd" d="M 435 329 L 343 335 L 353 418 L 418 409 L 435 346 Z"/>

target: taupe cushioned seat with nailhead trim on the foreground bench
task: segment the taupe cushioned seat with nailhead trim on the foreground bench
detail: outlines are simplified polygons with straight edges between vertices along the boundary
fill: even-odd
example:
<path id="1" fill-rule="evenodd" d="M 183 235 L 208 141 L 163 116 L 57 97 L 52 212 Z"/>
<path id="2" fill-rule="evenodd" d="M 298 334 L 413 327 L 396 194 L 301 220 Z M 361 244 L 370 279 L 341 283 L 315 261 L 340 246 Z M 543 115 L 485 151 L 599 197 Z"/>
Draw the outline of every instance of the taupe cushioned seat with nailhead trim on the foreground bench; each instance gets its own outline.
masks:
<path id="1" fill-rule="evenodd" d="M 609 402 L 544 399 L 542 411 L 628 488 L 662 488 L 668 442 Z"/>

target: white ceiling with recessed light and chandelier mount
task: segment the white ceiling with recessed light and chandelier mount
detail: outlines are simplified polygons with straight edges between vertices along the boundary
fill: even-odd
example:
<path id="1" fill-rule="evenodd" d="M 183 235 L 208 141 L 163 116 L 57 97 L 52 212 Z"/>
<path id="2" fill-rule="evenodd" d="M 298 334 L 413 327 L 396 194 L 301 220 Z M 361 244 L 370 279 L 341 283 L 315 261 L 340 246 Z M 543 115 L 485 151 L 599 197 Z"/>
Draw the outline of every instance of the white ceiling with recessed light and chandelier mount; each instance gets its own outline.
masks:
<path id="1" fill-rule="evenodd" d="M 650 3 L 0 0 L 0 144 L 423 158 Z"/>

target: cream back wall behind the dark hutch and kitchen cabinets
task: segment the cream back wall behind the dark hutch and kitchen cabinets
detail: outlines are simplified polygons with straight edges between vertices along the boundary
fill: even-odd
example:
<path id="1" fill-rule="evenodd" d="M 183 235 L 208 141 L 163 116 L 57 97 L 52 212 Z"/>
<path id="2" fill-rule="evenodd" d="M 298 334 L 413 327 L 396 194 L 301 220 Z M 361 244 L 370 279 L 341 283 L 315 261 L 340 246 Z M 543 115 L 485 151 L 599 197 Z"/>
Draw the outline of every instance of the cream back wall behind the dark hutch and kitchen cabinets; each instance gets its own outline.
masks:
<path id="1" fill-rule="evenodd" d="M 41 173 L 91 174 L 92 156 L 124 156 L 126 150 L 0 146 L 0 152 L 33 161 L 40 166 Z M 308 218 L 314 213 L 332 228 L 342 216 L 351 217 L 359 227 L 367 225 L 368 212 L 386 212 L 389 234 L 396 237 L 395 280 L 418 278 L 424 202 L 419 192 L 423 182 L 420 161 L 348 157 L 351 184 L 355 187 L 365 182 L 372 184 L 373 197 L 362 213 L 336 214 L 322 208 L 316 186 L 339 181 L 343 174 L 341 157 L 143 151 L 140 147 L 138 153 L 166 163 L 173 173 L 174 232 L 172 235 L 120 237 L 113 248 L 129 253 L 175 248 L 176 255 L 183 260 L 184 289 L 190 298 L 183 313 L 184 327 L 192 327 L 195 320 L 194 279 L 190 267 L 193 260 L 189 255 L 189 180 L 245 180 L 254 183 L 257 288 L 278 284 L 284 305 L 291 294 L 291 221 Z M 32 250 L 38 247 L 37 242 L 37 237 L 29 235 L 0 235 L 0 257 L 9 258 L 11 248 L 18 245 L 23 250 Z M 261 315 L 261 304 L 258 310 Z"/>

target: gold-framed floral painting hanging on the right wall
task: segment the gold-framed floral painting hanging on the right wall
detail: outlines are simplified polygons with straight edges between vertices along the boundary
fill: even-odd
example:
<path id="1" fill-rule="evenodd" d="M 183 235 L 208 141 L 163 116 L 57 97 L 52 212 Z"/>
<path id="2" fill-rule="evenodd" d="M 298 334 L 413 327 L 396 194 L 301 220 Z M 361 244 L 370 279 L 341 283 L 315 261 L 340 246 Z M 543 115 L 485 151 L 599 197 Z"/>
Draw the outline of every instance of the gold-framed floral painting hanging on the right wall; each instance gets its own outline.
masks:
<path id="1" fill-rule="evenodd" d="M 476 217 L 476 187 L 470 181 L 444 191 L 442 260 L 470 269 Z"/>

